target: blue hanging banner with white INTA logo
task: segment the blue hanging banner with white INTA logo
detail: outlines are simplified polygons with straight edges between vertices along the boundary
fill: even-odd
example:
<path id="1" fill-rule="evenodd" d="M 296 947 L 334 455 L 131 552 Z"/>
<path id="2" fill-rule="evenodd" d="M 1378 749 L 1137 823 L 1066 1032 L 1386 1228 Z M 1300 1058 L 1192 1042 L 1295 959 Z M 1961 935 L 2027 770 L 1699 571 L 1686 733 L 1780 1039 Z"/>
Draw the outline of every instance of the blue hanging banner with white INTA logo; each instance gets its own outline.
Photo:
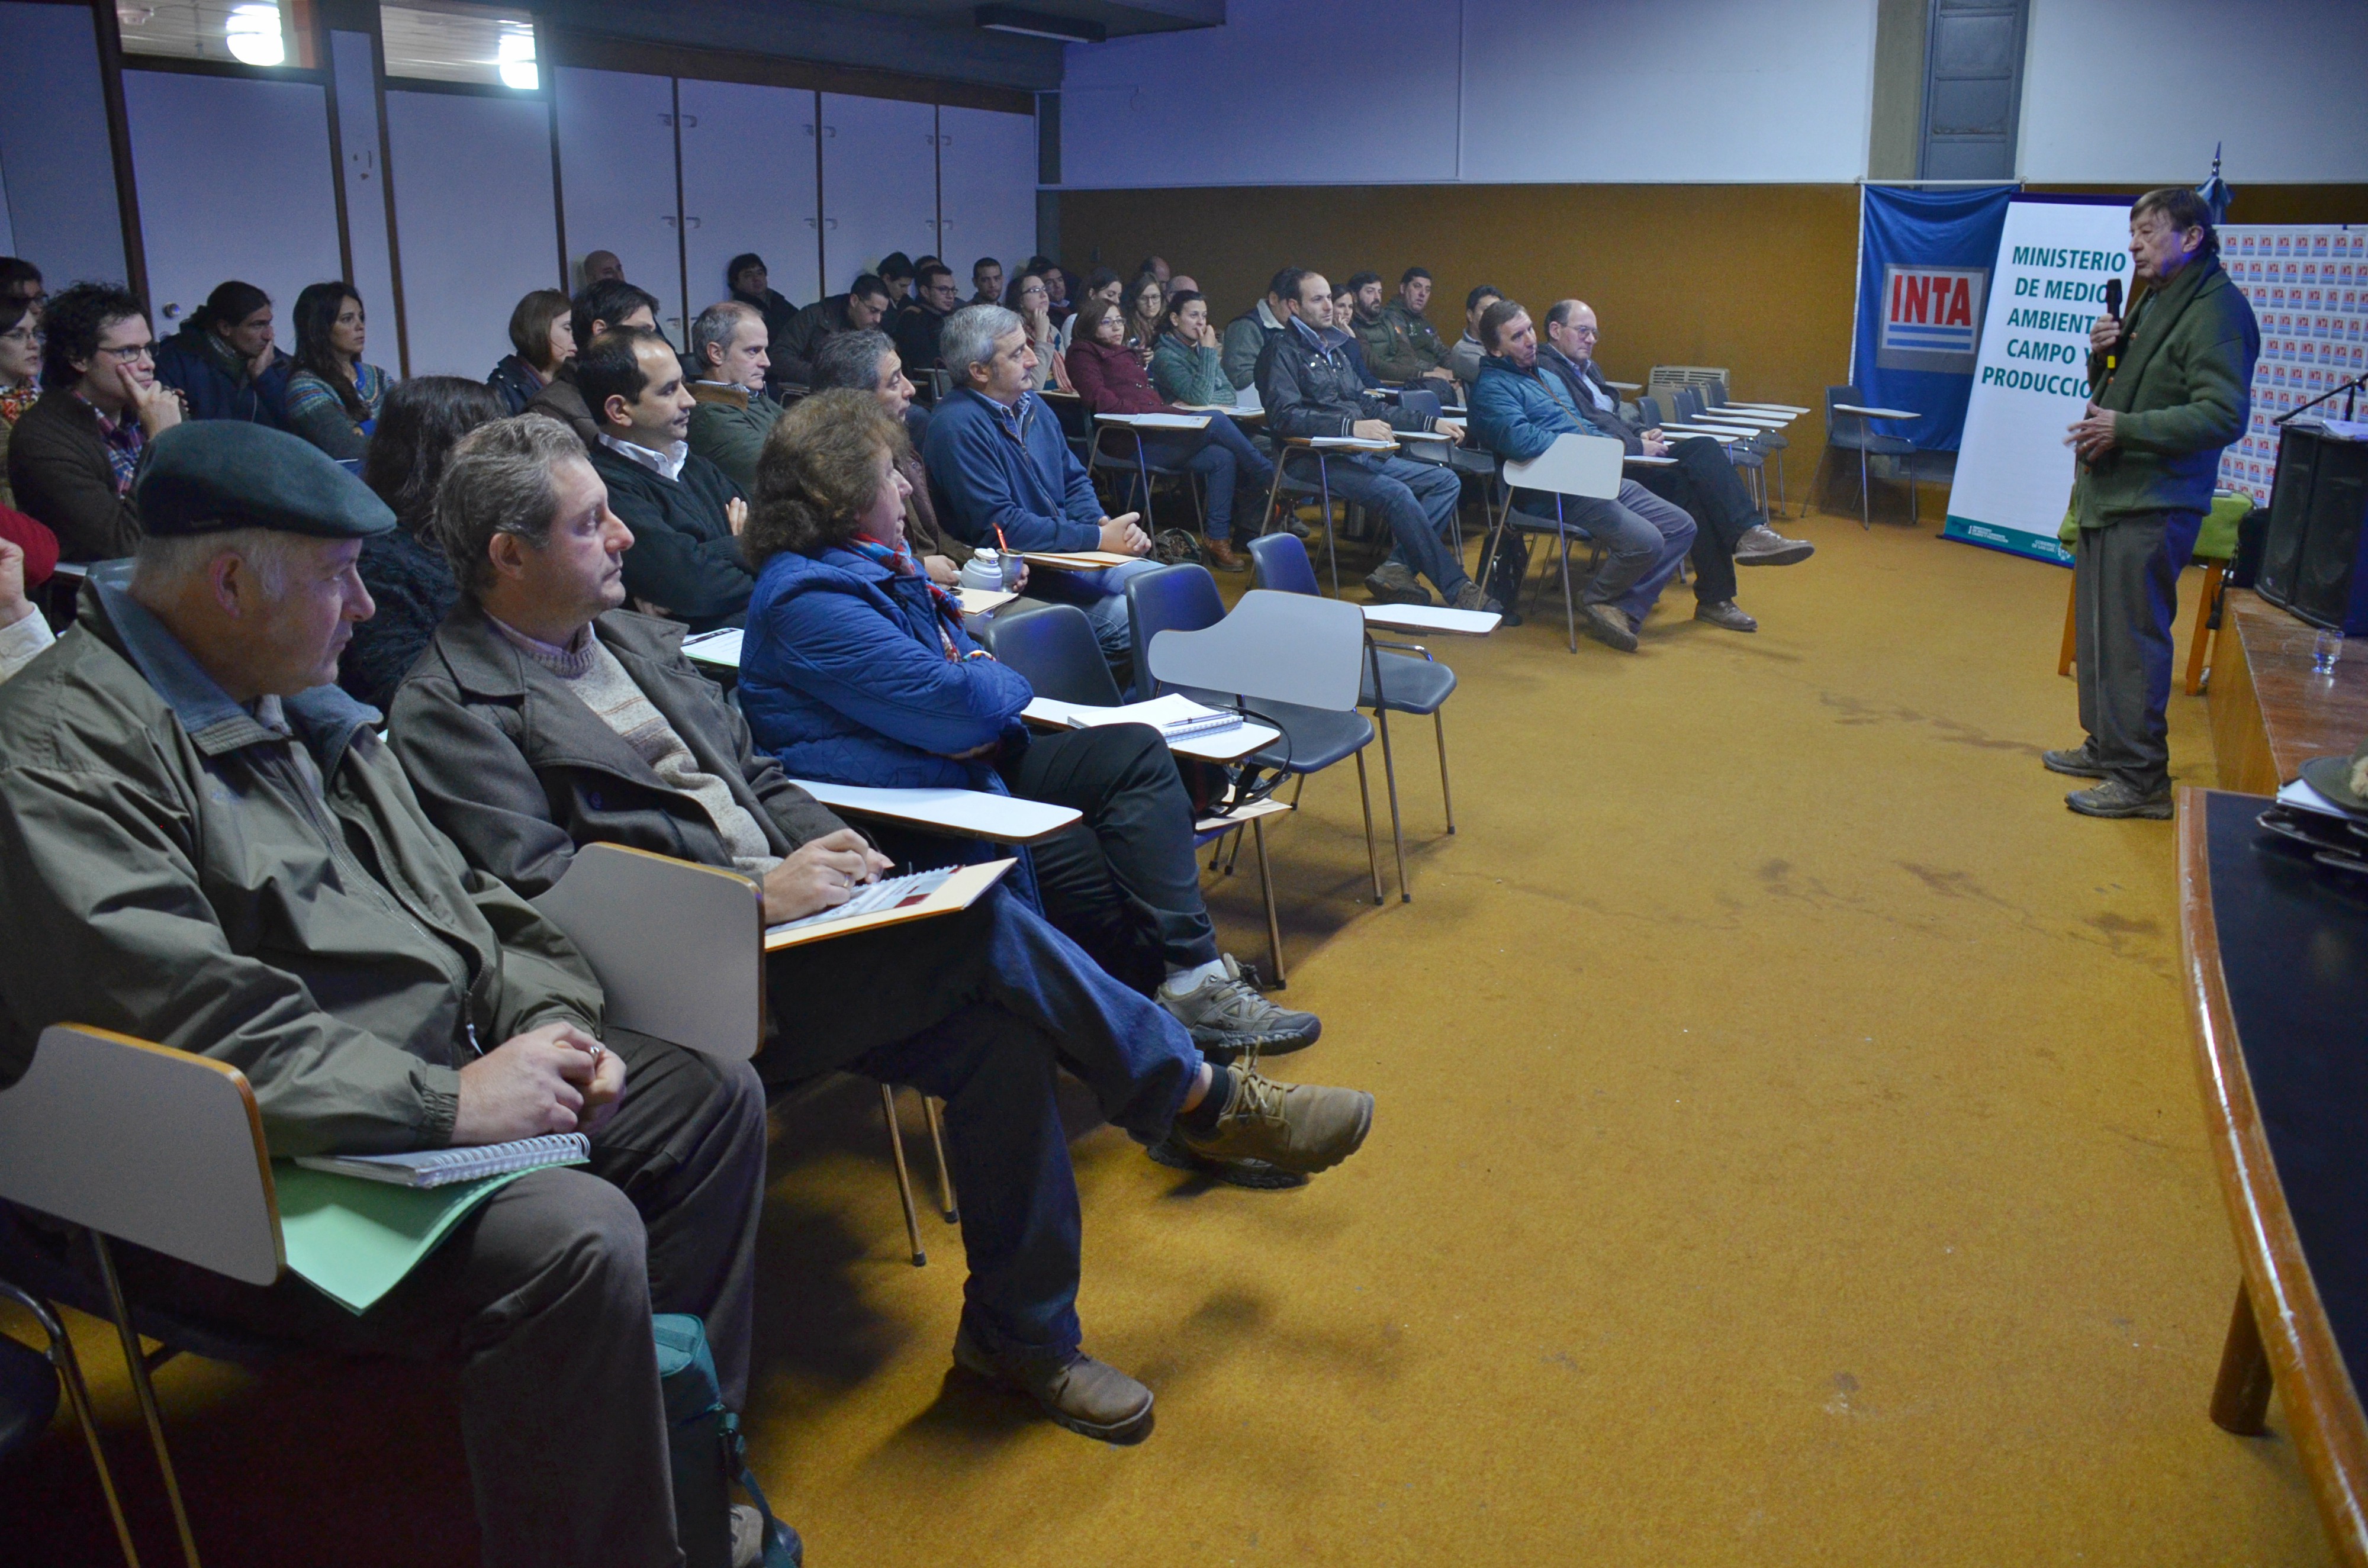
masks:
<path id="1" fill-rule="evenodd" d="M 1849 379 L 1873 407 L 1923 415 L 1897 433 L 1932 452 L 1956 450 L 1965 429 L 1989 268 L 2013 194 L 2013 185 L 1859 187 L 1859 324 Z"/>

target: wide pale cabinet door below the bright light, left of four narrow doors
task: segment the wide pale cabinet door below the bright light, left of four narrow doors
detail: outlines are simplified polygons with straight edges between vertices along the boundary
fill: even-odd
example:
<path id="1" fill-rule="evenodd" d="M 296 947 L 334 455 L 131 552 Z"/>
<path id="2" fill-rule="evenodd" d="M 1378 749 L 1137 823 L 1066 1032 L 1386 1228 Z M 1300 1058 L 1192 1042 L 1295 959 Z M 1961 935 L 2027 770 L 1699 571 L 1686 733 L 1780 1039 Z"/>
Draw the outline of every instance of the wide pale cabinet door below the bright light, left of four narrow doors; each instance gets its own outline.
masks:
<path id="1" fill-rule="evenodd" d="M 540 97 L 386 95 L 386 173 L 410 374 L 485 374 L 509 313 L 559 279 L 552 107 Z"/>

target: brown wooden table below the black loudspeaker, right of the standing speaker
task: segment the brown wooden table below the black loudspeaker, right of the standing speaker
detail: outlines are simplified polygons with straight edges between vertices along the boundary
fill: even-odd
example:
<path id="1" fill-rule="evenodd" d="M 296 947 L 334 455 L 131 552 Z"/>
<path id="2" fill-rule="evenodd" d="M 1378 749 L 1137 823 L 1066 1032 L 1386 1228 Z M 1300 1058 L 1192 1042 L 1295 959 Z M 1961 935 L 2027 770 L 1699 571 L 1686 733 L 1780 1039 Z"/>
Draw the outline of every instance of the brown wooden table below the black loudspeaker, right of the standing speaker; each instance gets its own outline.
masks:
<path id="1" fill-rule="evenodd" d="M 2224 595 L 2205 689 L 2221 786 L 2273 796 L 2311 758 L 2349 756 L 2368 734 L 2368 658 L 2351 651 L 2316 675 L 2314 635 L 2247 587 Z"/>

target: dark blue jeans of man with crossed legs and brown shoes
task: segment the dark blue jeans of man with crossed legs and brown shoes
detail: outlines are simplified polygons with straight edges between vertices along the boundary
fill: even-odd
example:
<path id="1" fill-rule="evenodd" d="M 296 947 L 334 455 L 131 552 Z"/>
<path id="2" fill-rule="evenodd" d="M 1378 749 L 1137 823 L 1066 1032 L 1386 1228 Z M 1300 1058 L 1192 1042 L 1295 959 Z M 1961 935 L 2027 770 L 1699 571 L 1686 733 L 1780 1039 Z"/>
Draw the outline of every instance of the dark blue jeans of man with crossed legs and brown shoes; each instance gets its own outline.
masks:
<path id="1" fill-rule="evenodd" d="M 1054 1099 L 1066 1066 L 1139 1142 L 1167 1135 L 1201 1049 L 1163 1007 L 997 888 L 966 917 L 985 983 L 938 1023 L 848 1063 L 945 1101 L 961 1194 L 964 1324 L 1009 1360 L 1068 1360 L 1077 1326 L 1077 1177 Z"/>

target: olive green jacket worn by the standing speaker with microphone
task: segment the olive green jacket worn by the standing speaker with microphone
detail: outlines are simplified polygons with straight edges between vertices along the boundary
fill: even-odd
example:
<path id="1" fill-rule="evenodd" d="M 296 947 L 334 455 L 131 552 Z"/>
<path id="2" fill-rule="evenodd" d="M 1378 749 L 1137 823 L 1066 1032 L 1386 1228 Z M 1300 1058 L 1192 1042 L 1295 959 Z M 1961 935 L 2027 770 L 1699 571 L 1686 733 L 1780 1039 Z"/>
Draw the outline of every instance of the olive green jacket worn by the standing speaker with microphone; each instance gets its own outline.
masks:
<path id="1" fill-rule="evenodd" d="M 2261 329 L 2216 256 L 2190 261 L 2129 313 L 2110 374 L 2089 355 L 2089 396 L 2110 407 L 2115 445 L 2079 471 L 2079 526 L 2153 512 L 2207 512 L 2221 448 L 2252 419 Z"/>

